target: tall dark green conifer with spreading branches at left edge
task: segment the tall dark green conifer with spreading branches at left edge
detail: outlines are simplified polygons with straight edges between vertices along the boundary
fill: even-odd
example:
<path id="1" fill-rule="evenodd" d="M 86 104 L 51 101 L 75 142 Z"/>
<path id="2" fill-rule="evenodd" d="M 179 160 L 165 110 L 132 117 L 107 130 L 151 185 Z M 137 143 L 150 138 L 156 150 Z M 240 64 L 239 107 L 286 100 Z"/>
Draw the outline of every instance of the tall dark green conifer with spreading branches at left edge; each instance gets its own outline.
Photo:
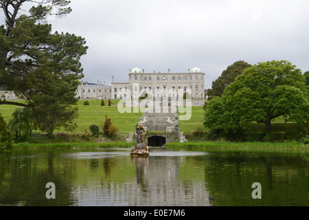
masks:
<path id="1" fill-rule="evenodd" d="M 24 13 L 23 3 L 33 7 Z M 0 28 L 0 87 L 23 95 L 27 102 L 1 102 L 32 109 L 41 131 L 50 136 L 54 129 L 76 126 L 73 119 L 78 80 L 83 77 L 80 58 L 86 41 L 74 34 L 52 33 L 47 16 L 58 8 L 57 16 L 71 12 L 65 0 L 0 0 L 5 25 Z"/>

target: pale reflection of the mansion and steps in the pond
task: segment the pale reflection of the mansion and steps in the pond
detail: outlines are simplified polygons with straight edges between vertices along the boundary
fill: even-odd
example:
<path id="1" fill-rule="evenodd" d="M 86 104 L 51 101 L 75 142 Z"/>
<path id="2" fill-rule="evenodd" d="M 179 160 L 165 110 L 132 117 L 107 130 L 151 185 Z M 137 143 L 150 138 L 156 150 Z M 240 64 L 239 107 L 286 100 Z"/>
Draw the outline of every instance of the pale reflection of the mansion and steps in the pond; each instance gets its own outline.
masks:
<path id="1" fill-rule="evenodd" d="M 210 206 L 205 177 L 179 178 L 180 162 L 180 157 L 131 157 L 126 166 L 135 166 L 135 181 L 93 179 L 71 196 L 77 206 Z"/>

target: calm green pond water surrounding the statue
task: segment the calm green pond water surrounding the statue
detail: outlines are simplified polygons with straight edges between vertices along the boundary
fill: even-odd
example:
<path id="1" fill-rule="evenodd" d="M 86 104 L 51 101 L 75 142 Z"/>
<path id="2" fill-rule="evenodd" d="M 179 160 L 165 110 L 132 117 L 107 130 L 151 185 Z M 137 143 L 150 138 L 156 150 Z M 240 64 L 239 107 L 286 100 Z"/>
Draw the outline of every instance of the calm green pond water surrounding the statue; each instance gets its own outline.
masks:
<path id="1" fill-rule="evenodd" d="M 5 151 L 0 206 L 308 206 L 309 153 L 153 149 Z M 47 199 L 46 184 L 56 199 Z M 253 199 L 252 184 L 262 199 Z"/>

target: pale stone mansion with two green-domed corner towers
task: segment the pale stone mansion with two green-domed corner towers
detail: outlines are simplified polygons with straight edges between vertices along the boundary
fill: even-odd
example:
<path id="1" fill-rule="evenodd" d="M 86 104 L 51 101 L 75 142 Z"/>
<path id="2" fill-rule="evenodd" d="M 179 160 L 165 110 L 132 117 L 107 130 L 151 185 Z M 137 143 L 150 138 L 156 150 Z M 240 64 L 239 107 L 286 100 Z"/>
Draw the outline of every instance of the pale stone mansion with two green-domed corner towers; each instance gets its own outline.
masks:
<path id="1" fill-rule="evenodd" d="M 145 93 L 155 96 L 156 91 L 184 91 L 189 92 L 194 99 L 205 98 L 205 74 L 198 67 L 188 69 L 184 73 L 146 73 L 144 69 L 135 67 L 130 69 L 128 83 L 112 82 L 106 85 L 104 82 L 93 84 L 84 83 L 78 87 L 76 97 L 81 99 L 122 99 L 124 96 L 133 97 L 133 93 L 139 92 L 140 96 Z"/>

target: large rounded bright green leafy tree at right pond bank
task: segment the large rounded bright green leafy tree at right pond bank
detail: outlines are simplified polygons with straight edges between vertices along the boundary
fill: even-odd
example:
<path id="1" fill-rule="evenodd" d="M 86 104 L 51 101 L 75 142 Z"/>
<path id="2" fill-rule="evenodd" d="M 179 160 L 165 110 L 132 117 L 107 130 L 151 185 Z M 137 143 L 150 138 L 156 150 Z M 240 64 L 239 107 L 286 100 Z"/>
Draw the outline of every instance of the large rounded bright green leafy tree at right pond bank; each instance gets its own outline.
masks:
<path id="1" fill-rule="evenodd" d="M 205 126 L 232 128 L 253 122 L 264 123 L 271 133 L 271 121 L 304 124 L 309 120 L 306 80 L 300 69 L 288 61 L 268 61 L 245 69 L 221 98 L 207 104 Z"/>

